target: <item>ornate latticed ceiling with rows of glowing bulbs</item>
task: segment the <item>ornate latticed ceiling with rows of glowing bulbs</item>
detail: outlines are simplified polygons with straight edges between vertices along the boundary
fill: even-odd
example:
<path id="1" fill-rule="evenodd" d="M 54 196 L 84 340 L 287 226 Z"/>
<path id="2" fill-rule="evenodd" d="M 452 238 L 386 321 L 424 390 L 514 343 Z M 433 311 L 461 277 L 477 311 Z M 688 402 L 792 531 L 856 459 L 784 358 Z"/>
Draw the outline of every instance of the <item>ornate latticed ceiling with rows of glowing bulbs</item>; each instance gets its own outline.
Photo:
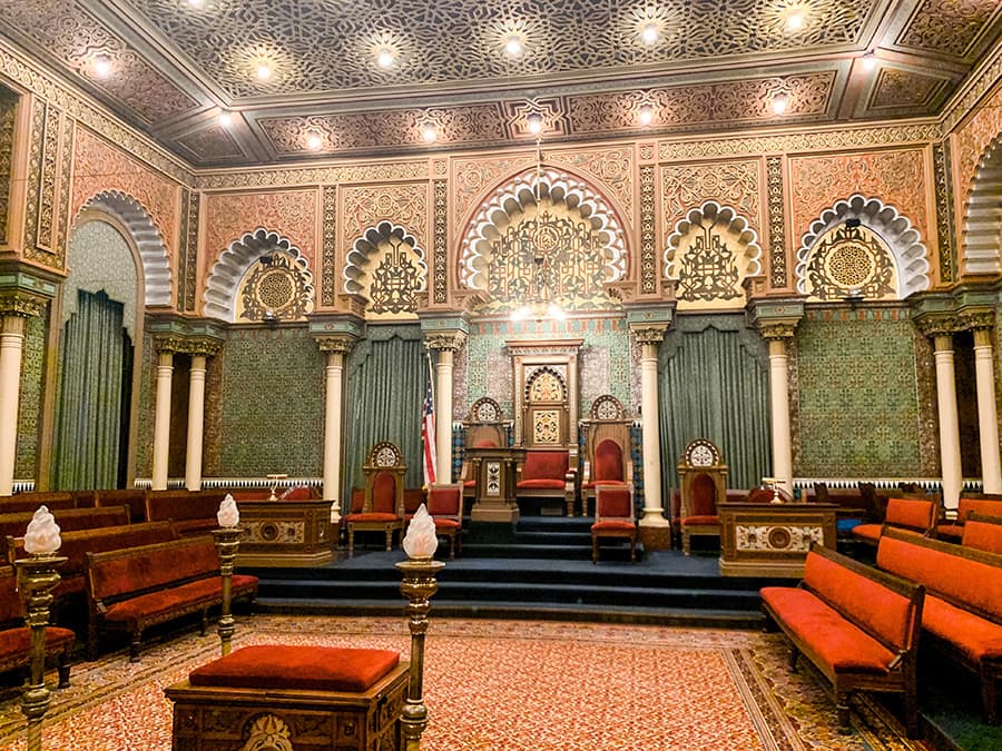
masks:
<path id="1" fill-rule="evenodd" d="M 799 29 L 789 24 L 794 12 Z M 652 43 L 646 28 L 657 31 Z M 532 115 L 547 141 L 931 117 L 1000 34 L 999 0 L 0 8 L 0 36 L 199 167 L 497 147 L 532 140 Z M 505 53 L 512 38 L 523 47 L 518 57 Z M 389 67 L 381 52 L 393 56 Z M 429 125 L 434 142 L 424 140 Z"/>

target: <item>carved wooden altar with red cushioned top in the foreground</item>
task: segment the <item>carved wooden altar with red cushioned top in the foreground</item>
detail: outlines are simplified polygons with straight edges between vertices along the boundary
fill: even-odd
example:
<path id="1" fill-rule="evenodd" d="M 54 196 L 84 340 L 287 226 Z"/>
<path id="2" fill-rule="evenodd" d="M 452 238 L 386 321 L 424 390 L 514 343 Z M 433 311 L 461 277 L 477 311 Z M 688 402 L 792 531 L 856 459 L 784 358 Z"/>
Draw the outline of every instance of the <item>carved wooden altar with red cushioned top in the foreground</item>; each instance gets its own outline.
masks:
<path id="1" fill-rule="evenodd" d="M 409 666 L 390 650 L 245 646 L 165 689 L 173 748 L 403 749 Z"/>

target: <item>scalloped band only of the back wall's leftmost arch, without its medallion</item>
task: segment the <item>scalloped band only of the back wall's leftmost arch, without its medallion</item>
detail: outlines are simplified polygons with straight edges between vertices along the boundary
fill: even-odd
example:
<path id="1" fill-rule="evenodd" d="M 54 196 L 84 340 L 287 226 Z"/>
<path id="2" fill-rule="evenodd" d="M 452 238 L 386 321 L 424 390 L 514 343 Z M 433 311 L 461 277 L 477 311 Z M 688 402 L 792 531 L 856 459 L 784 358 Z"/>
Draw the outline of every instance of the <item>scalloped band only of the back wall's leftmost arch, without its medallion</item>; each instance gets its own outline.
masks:
<path id="1" fill-rule="evenodd" d="M 258 227 L 253 233 L 247 233 L 238 240 L 230 243 L 229 247 L 213 264 L 203 295 L 204 314 L 210 318 L 233 323 L 236 319 L 236 298 L 240 279 L 258 258 L 273 253 L 285 253 L 292 256 L 293 263 L 298 267 L 299 273 L 306 276 L 306 283 L 312 286 L 313 274 L 311 274 L 310 264 L 299 248 L 293 245 L 287 237 Z"/>

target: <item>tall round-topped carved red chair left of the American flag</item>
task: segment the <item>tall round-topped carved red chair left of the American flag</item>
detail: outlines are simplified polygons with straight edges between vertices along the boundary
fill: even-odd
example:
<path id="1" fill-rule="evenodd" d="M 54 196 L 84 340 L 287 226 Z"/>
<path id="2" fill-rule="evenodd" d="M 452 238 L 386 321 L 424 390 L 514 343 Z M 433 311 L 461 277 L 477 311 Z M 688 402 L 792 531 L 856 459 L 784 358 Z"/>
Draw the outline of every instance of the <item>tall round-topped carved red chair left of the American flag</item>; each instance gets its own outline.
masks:
<path id="1" fill-rule="evenodd" d="M 355 554 L 356 532 L 383 532 L 386 551 L 393 549 L 393 533 L 403 530 L 404 473 L 407 466 L 395 444 L 381 441 L 362 466 L 365 475 L 365 495 L 362 511 L 344 517 L 348 538 L 348 557 Z"/>

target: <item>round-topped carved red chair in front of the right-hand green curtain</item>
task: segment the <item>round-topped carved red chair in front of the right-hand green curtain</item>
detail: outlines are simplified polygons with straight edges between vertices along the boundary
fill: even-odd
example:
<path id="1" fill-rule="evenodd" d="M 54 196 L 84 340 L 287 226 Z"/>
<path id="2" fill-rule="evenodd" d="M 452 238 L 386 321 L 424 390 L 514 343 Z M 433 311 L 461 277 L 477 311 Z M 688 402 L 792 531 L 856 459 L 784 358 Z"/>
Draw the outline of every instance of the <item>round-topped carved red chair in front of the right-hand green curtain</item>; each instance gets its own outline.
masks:
<path id="1" fill-rule="evenodd" d="M 720 536 L 717 504 L 727 500 L 727 465 L 713 443 L 696 438 L 686 446 L 677 470 L 679 530 L 682 552 L 688 555 L 692 535 Z"/>

